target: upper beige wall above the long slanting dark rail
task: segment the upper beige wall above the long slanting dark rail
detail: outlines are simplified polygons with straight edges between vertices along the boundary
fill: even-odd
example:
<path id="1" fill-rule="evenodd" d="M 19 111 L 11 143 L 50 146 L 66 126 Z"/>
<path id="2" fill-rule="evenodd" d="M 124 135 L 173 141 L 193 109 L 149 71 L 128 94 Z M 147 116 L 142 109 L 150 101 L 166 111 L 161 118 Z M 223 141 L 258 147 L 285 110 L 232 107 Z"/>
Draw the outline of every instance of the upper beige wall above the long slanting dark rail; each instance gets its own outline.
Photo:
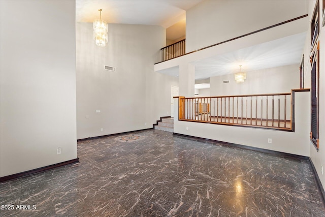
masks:
<path id="1" fill-rule="evenodd" d="M 306 1 L 203 1 L 186 11 L 186 52 L 305 14 Z"/>

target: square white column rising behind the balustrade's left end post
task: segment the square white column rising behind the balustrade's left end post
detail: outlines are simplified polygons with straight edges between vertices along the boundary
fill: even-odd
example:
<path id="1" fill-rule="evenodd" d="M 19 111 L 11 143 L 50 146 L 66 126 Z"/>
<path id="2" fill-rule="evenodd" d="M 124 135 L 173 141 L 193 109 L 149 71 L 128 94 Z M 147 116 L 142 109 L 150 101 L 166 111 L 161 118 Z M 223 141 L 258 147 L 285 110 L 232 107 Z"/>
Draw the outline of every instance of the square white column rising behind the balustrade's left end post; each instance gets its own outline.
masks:
<path id="1" fill-rule="evenodd" d="M 195 66 L 189 63 L 179 65 L 179 96 L 194 97 Z"/>

